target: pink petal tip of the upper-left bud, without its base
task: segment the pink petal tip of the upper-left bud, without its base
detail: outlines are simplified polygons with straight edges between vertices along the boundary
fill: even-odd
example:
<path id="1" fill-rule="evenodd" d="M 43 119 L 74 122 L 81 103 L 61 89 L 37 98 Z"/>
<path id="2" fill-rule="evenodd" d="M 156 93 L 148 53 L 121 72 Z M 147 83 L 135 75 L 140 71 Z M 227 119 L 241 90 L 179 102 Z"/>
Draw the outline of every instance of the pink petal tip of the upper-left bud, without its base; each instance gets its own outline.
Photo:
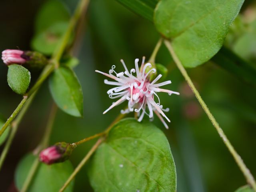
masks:
<path id="1" fill-rule="evenodd" d="M 6 65 L 24 64 L 30 57 L 24 54 L 24 51 L 6 49 L 2 52 L 2 60 Z"/>

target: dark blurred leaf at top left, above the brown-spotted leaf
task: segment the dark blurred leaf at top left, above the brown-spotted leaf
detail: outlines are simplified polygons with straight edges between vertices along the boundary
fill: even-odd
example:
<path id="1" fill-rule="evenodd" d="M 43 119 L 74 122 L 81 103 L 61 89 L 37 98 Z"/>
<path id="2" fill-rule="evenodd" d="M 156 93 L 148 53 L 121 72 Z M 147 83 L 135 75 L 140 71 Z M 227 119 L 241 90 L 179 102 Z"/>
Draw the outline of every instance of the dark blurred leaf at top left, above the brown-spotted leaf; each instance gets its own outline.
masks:
<path id="1" fill-rule="evenodd" d="M 41 33 L 58 22 L 68 22 L 70 14 L 59 0 L 49 0 L 42 5 L 35 20 L 35 32 Z"/>

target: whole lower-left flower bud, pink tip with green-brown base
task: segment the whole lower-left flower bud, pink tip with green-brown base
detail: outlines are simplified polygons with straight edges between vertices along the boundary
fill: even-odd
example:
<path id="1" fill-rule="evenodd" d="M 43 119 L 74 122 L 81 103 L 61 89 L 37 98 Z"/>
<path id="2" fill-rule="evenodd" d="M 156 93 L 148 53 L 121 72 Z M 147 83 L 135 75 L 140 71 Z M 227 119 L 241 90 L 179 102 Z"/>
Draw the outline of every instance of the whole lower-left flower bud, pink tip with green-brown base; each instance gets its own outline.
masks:
<path id="1" fill-rule="evenodd" d="M 53 164 L 68 160 L 74 147 L 66 142 L 58 142 L 48 147 L 39 154 L 39 160 L 45 164 Z"/>

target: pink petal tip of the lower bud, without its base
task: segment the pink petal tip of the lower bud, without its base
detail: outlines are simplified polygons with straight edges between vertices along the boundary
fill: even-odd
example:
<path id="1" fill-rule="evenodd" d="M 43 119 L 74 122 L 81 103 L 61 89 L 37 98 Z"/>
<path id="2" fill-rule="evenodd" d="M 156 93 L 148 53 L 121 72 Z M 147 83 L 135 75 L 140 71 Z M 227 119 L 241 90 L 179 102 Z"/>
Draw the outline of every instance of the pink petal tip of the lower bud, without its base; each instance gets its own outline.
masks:
<path id="1" fill-rule="evenodd" d="M 62 154 L 59 154 L 56 146 L 51 146 L 42 150 L 39 155 L 39 160 L 45 164 L 53 164 L 57 162 L 62 157 Z"/>

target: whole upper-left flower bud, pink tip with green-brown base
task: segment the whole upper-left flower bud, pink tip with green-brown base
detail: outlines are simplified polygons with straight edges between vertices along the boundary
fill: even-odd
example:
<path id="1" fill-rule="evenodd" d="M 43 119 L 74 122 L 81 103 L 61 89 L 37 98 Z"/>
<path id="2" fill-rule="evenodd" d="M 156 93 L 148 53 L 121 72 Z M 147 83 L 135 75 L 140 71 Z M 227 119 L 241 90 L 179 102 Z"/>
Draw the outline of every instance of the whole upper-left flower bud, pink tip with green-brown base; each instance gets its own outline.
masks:
<path id="1" fill-rule="evenodd" d="M 2 60 L 6 65 L 26 64 L 32 68 L 43 68 L 47 58 L 38 52 L 6 49 L 2 52 Z"/>

